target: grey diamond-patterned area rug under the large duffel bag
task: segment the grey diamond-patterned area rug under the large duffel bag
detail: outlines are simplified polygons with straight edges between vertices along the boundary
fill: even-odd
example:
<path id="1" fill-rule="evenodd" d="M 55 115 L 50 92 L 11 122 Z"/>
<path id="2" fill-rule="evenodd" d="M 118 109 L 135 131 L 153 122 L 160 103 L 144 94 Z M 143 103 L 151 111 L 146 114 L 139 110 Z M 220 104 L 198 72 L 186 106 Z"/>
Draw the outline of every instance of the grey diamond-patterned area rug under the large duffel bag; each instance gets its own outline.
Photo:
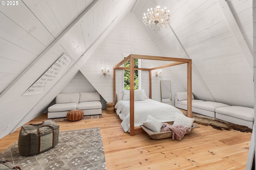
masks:
<path id="1" fill-rule="evenodd" d="M 21 156 L 16 141 L 0 159 L 22 170 L 106 170 L 100 128 L 60 132 L 56 147 L 35 156 Z"/>

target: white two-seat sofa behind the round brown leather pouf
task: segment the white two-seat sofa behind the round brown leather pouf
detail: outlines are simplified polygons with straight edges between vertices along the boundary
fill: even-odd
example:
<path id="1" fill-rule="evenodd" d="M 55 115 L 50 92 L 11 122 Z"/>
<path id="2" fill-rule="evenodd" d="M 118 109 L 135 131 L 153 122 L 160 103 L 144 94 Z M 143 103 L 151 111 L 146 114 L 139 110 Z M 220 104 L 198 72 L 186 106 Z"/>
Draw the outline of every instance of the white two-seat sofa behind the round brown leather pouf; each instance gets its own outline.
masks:
<path id="1" fill-rule="evenodd" d="M 66 117 L 68 111 L 81 109 L 84 115 L 99 115 L 102 111 L 98 92 L 61 93 L 48 108 L 48 119 Z"/>

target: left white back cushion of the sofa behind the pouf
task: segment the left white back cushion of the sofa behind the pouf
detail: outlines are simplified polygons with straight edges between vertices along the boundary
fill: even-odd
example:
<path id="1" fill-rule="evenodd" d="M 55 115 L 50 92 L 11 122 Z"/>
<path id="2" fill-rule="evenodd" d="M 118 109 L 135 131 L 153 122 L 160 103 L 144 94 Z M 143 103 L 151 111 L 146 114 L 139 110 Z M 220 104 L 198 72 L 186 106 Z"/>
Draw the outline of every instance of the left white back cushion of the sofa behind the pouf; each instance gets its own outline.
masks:
<path id="1" fill-rule="evenodd" d="M 79 93 L 60 93 L 56 96 L 55 103 L 79 103 Z"/>

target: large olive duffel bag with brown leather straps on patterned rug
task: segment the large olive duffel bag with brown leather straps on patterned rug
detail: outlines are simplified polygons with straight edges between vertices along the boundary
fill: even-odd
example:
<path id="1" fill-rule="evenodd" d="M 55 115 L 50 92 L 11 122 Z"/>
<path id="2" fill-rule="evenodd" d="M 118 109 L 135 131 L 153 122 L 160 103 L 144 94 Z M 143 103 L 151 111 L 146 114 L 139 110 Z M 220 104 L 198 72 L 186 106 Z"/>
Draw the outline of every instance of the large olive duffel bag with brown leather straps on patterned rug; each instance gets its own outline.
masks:
<path id="1" fill-rule="evenodd" d="M 33 156 L 58 144 L 59 125 L 52 120 L 24 125 L 20 129 L 18 149 L 21 156 Z"/>

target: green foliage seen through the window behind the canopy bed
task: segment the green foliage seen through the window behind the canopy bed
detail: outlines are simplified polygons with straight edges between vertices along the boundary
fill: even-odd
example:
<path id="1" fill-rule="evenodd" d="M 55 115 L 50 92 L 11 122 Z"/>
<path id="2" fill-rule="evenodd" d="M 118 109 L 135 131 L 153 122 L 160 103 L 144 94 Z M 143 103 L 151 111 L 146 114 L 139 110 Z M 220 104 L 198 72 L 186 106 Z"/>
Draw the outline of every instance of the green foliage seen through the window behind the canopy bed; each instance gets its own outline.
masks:
<path id="1" fill-rule="evenodd" d="M 134 67 L 138 68 L 138 59 L 134 59 Z M 130 61 L 124 63 L 124 67 L 130 68 Z M 124 70 L 124 89 L 130 90 L 130 70 Z M 134 90 L 139 89 L 139 70 L 134 70 Z"/>

